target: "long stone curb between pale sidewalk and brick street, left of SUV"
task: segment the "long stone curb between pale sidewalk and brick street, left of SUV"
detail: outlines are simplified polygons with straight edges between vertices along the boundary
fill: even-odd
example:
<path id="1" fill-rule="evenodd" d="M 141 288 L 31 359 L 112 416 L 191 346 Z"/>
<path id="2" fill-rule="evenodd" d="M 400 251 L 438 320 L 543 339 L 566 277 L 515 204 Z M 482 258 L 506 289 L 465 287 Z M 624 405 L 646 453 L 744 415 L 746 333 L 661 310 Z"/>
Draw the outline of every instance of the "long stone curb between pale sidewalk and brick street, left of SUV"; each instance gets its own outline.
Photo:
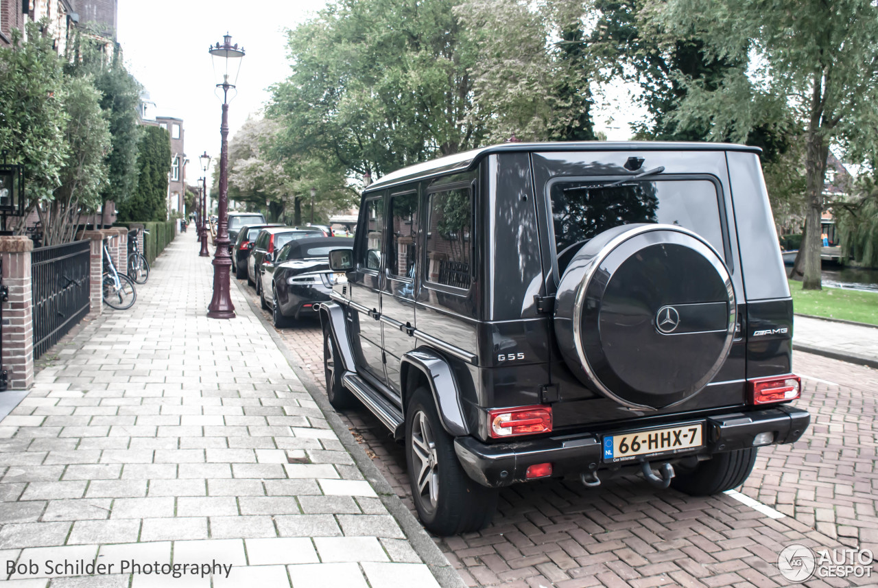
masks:
<path id="1" fill-rule="evenodd" d="M 290 364 L 293 372 L 299 377 L 302 385 L 305 386 L 308 394 L 320 407 L 320 411 L 323 412 L 323 415 L 326 417 L 327 423 L 329 423 L 329 426 L 335 431 L 335 434 L 338 435 L 339 441 L 342 441 L 342 445 L 354 459 L 356 466 L 363 472 L 363 476 L 369 480 L 370 484 L 372 484 L 372 487 L 378 493 L 378 498 L 380 498 L 387 511 L 391 513 L 391 516 L 399 523 L 399 528 L 401 528 L 403 534 L 406 535 L 406 539 L 411 543 L 415 553 L 421 557 L 423 563 L 427 564 L 427 567 L 430 570 L 430 573 L 433 574 L 433 577 L 435 577 L 436 582 L 438 582 L 442 588 L 466 588 L 464 580 L 457 573 L 457 570 L 451 567 L 449 561 L 445 559 L 442 550 L 436 546 L 435 541 L 433 541 L 427 531 L 424 530 L 424 527 L 421 527 L 421 523 L 414 518 L 414 514 L 412 514 L 412 512 L 408 510 L 408 507 L 402 503 L 402 500 L 400 500 L 396 495 L 396 492 L 393 491 L 384 475 L 378 470 L 378 466 L 376 466 L 375 463 L 372 463 L 371 457 L 366 455 L 365 449 L 356 442 L 354 435 L 351 434 L 348 427 L 345 427 L 344 423 L 342 423 L 342 419 L 340 419 L 338 414 L 335 413 L 335 409 L 329 405 L 329 400 L 326 395 L 320 391 L 320 388 L 314 383 L 311 374 L 295 364 L 290 350 L 286 348 L 284 340 L 277 334 L 274 326 L 269 322 L 269 319 L 266 319 L 263 316 L 262 309 L 257 307 L 256 303 L 250 299 L 246 286 L 241 285 L 241 282 L 234 278 L 233 281 L 238 286 L 238 290 L 241 290 L 244 300 L 247 301 L 255 317 L 263 323 L 263 326 L 265 326 L 265 330 L 269 333 L 272 341 L 275 342 L 278 350 L 284 355 L 286 362 Z"/>

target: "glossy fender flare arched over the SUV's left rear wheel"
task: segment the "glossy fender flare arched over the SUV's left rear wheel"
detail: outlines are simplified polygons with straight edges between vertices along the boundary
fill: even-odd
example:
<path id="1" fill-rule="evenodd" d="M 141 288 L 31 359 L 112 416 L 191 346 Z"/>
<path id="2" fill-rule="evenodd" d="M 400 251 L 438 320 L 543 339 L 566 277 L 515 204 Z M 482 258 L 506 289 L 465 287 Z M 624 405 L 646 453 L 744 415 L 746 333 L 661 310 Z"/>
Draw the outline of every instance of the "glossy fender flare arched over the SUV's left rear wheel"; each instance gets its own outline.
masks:
<path id="1" fill-rule="evenodd" d="M 409 351 L 400 360 L 402 382 L 402 406 L 405 412 L 408 398 L 414 393 L 420 375 L 427 380 L 443 428 L 453 437 L 470 434 L 460 403 L 460 391 L 448 362 L 432 349 L 418 348 Z M 418 373 L 420 372 L 420 374 Z"/>

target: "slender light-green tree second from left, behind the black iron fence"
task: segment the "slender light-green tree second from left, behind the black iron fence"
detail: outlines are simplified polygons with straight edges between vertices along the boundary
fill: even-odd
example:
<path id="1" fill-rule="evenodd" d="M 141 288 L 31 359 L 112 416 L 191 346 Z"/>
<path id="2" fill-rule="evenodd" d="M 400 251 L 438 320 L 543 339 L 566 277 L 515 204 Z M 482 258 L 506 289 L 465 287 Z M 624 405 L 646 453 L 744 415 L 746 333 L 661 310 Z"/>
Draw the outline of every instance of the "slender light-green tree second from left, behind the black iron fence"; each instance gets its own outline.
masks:
<path id="1" fill-rule="evenodd" d="M 104 156 L 110 150 L 109 124 L 99 104 L 100 93 L 89 77 L 67 78 L 61 102 L 67 113 L 63 142 L 68 156 L 61 167 L 61 185 L 51 200 L 38 207 L 43 244 L 74 240 L 80 212 L 94 211 L 106 183 Z"/>

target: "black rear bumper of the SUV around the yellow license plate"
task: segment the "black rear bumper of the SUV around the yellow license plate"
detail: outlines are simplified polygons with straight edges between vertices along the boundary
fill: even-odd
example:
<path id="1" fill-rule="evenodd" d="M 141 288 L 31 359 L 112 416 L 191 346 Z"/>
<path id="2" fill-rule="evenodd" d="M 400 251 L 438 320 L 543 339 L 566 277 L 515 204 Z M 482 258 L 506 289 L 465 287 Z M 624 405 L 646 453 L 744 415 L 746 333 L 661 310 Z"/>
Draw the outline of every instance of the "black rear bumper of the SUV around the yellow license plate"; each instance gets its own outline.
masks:
<path id="1" fill-rule="evenodd" d="M 691 419 L 687 419 L 691 422 Z M 703 448 L 680 455 L 655 458 L 666 462 L 690 455 L 709 457 L 716 453 L 753 447 L 760 433 L 774 433 L 774 442 L 798 441 L 810 424 L 810 414 L 793 406 L 781 405 L 749 412 L 730 412 L 703 419 L 706 437 Z M 665 426 L 673 427 L 674 423 Z M 558 437 L 487 444 L 473 437 L 457 437 L 454 449 L 469 476 L 488 487 L 507 486 L 527 481 L 525 472 L 535 463 L 551 463 L 552 476 L 578 476 L 587 471 L 616 468 L 617 463 L 601 461 L 601 438 L 604 434 L 572 434 Z M 636 464 L 637 460 L 628 464 Z"/>

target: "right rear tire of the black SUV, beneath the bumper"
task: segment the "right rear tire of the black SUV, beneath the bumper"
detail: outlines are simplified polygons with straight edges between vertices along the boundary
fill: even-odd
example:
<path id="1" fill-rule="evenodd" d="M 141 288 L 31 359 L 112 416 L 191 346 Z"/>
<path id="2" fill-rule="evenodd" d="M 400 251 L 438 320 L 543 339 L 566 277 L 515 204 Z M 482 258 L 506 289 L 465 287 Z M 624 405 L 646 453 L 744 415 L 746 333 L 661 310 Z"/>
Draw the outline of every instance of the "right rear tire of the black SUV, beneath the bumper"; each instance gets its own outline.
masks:
<path id="1" fill-rule="evenodd" d="M 737 488 L 750 476 L 757 451 L 746 448 L 718 453 L 691 470 L 678 469 L 671 485 L 691 496 L 710 496 Z"/>

